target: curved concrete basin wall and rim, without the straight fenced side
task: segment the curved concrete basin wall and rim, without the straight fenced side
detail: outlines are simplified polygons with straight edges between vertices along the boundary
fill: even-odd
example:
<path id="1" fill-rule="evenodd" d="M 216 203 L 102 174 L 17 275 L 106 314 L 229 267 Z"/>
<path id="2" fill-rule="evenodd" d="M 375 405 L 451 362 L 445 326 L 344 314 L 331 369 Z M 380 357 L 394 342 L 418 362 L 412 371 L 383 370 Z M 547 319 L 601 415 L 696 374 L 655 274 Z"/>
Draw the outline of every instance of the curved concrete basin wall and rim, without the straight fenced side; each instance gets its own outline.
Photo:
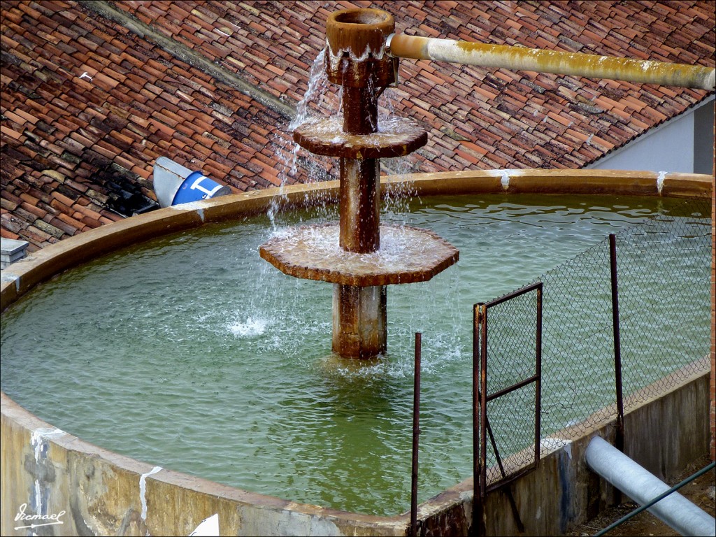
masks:
<path id="1" fill-rule="evenodd" d="M 411 175 L 385 180 L 395 195 L 463 193 L 616 193 L 708 197 L 705 175 L 569 170 L 499 170 Z M 6 309 L 42 281 L 119 248 L 204 223 L 265 212 L 271 203 L 286 208 L 315 198 L 337 198 L 337 182 L 271 189 L 177 205 L 127 218 L 67 239 L 3 271 L 1 307 Z M 0 533 L 12 533 L 16 499 L 39 491 L 48 512 L 67 513 L 63 531 L 153 535 L 188 534 L 204 518 L 218 514 L 222 533 L 249 535 L 405 535 L 407 513 L 367 516 L 294 503 L 218 485 L 97 448 L 39 420 L 2 395 L 3 488 Z M 11 495 L 11 490 L 14 491 Z M 29 494 L 29 493 L 28 493 Z M 34 494 L 34 493 L 33 493 Z M 471 480 L 456 484 L 420 505 L 427 526 L 466 528 Z M 34 498 L 34 496 L 33 496 Z M 48 503 L 49 502 L 49 503 Z M 69 509 L 68 507 L 71 507 Z M 71 511 L 71 512 L 70 512 Z"/>

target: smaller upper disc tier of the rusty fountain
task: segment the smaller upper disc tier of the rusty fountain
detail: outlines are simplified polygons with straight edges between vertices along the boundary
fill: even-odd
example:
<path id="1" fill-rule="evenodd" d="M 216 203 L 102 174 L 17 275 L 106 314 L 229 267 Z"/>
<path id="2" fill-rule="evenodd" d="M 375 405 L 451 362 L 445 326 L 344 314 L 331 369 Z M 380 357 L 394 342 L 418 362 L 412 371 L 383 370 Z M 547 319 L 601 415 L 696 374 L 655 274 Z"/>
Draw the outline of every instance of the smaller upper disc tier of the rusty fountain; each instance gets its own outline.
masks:
<path id="1" fill-rule="evenodd" d="M 405 157 L 427 143 L 427 132 L 415 121 L 388 117 L 378 121 L 378 132 L 350 135 L 338 117 L 326 117 L 299 125 L 294 142 L 316 155 L 342 158 Z"/>

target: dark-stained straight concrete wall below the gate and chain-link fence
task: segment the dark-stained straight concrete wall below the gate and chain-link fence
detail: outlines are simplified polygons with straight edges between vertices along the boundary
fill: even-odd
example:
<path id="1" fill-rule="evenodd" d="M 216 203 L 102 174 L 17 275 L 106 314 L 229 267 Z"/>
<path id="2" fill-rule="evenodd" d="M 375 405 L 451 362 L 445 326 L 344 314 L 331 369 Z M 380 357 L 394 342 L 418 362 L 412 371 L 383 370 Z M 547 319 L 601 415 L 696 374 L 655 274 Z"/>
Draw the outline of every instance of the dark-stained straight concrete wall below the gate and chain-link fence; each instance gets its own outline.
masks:
<path id="1" fill-rule="evenodd" d="M 662 480 L 674 478 L 707 455 L 709 377 L 708 364 L 702 362 L 666 395 L 629 410 L 624 416 L 624 453 Z M 544 457 L 538 470 L 512 485 L 527 535 L 566 533 L 614 503 L 614 488 L 586 466 L 586 448 L 595 435 L 613 444 L 614 421 L 586 435 L 570 430 L 553 435 L 569 444 Z M 487 504 L 488 535 L 517 535 L 505 493 L 488 495 Z"/>

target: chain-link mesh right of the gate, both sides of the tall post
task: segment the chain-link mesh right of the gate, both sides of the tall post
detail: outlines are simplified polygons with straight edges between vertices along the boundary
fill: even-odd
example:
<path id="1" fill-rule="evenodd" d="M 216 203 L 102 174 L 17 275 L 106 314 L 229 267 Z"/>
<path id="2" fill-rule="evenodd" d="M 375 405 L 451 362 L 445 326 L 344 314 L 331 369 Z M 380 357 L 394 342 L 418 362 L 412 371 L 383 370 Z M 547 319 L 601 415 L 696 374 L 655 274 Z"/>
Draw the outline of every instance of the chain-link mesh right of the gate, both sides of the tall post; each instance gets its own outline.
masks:
<path id="1" fill-rule="evenodd" d="M 704 367 L 710 344 L 709 200 L 616 234 L 624 407 Z M 616 413 L 609 241 L 541 277 L 542 433 Z"/>

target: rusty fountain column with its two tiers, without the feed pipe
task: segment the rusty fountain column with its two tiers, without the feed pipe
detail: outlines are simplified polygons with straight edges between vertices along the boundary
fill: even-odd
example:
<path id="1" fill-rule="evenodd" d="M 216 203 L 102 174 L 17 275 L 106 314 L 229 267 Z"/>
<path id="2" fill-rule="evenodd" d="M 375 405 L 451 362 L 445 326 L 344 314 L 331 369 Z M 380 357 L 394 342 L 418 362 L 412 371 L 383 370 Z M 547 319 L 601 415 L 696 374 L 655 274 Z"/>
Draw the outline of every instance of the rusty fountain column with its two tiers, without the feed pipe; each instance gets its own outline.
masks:
<path id="1" fill-rule="evenodd" d="M 313 120 L 296 143 L 340 158 L 338 224 L 295 228 L 264 243 L 261 257 L 289 276 L 334 284 L 334 352 L 366 359 L 386 351 L 386 286 L 426 281 L 459 252 L 430 231 L 380 225 L 380 159 L 408 155 L 427 142 L 416 122 L 378 124 L 378 96 L 395 82 L 397 59 L 385 54 L 395 30 L 389 13 L 347 9 L 329 16 L 328 79 L 342 86 L 342 120 Z"/>

